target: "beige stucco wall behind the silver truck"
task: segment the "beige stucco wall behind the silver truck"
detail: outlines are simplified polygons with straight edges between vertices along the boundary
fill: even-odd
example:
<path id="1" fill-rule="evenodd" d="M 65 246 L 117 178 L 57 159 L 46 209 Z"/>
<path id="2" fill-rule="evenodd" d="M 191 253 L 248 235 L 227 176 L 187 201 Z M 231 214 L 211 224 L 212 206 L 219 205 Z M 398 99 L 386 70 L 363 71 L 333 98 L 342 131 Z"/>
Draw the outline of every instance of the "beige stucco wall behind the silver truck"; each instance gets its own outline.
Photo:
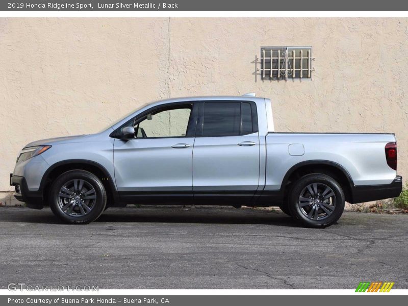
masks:
<path id="1" fill-rule="evenodd" d="M 254 75 L 311 45 L 312 81 Z M 96 132 L 142 103 L 256 92 L 276 131 L 394 132 L 408 177 L 406 18 L 0 18 L 0 190 L 26 143 Z"/>

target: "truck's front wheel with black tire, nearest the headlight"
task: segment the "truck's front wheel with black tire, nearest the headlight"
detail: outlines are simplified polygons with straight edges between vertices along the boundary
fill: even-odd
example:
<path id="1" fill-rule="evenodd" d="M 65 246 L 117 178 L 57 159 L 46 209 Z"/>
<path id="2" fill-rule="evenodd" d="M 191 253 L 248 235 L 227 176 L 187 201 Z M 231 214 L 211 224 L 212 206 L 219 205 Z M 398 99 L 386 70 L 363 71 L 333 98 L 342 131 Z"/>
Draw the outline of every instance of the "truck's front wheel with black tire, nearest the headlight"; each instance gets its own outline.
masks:
<path id="1" fill-rule="evenodd" d="M 53 213 L 70 224 L 87 224 L 96 220 L 104 212 L 106 201 L 104 185 L 98 177 L 85 170 L 62 173 L 48 192 Z"/>

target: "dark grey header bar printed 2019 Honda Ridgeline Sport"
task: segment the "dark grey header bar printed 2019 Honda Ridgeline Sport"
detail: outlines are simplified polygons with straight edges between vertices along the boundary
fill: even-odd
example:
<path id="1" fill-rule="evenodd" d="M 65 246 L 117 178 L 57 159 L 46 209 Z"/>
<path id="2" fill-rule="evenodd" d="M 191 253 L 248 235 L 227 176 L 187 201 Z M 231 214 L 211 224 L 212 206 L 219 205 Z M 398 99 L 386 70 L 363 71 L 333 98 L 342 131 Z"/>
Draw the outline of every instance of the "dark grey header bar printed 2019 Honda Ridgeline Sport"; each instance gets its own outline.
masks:
<path id="1" fill-rule="evenodd" d="M 0 11 L 408 11 L 403 0 L 0 1 Z"/>

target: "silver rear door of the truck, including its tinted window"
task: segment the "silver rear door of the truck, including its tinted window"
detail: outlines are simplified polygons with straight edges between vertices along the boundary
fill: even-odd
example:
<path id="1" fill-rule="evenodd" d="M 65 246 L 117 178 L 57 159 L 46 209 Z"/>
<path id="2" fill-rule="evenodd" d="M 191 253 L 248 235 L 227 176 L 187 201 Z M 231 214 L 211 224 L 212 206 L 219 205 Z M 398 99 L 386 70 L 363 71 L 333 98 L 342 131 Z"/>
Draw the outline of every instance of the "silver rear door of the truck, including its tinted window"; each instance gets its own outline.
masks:
<path id="1" fill-rule="evenodd" d="M 193 193 L 250 200 L 259 186 L 260 146 L 256 104 L 203 101 L 193 149 Z"/>

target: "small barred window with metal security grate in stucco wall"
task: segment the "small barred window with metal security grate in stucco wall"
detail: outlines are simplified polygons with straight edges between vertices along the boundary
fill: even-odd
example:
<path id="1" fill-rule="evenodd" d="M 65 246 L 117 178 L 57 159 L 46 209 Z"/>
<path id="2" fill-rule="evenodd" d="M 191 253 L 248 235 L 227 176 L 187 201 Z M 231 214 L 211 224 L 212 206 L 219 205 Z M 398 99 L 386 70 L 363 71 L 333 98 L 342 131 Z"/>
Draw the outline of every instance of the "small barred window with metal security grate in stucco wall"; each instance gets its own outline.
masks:
<path id="1" fill-rule="evenodd" d="M 261 47 L 263 80 L 312 79 L 312 47 Z"/>

